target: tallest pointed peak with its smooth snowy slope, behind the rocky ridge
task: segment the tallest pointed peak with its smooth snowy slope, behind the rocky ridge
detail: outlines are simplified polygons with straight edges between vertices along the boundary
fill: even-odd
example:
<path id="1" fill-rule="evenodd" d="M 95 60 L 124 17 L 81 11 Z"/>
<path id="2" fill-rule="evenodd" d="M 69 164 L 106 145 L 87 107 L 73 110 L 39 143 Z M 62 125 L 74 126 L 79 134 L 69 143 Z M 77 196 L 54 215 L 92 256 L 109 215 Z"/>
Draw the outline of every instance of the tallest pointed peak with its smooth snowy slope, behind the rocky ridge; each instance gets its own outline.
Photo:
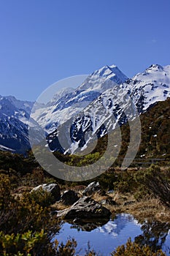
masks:
<path id="1" fill-rule="evenodd" d="M 59 91 L 47 103 L 39 108 L 31 117 L 50 134 L 58 125 L 63 124 L 72 116 L 76 116 L 99 95 L 112 86 L 125 82 L 128 78 L 115 65 L 104 66 L 93 72 L 77 89 Z M 60 97 L 58 97 L 60 95 Z"/>

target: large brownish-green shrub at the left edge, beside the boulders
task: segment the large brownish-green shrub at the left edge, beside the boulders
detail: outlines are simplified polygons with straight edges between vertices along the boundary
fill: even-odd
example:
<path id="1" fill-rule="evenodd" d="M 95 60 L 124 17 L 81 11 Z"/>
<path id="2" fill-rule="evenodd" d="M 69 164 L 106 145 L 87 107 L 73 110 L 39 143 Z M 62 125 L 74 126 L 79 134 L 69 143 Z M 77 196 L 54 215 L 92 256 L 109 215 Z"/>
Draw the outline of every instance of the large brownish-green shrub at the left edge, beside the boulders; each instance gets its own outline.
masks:
<path id="1" fill-rule="evenodd" d="M 9 176 L 0 175 L 0 230 L 5 234 L 33 232 L 44 229 L 50 235 L 58 232 L 58 219 L 50 214 L 51 197 L 28 192 L 22 196 L 13 195 Z M 33 198 L 34 197 L 34 198 Z"/>

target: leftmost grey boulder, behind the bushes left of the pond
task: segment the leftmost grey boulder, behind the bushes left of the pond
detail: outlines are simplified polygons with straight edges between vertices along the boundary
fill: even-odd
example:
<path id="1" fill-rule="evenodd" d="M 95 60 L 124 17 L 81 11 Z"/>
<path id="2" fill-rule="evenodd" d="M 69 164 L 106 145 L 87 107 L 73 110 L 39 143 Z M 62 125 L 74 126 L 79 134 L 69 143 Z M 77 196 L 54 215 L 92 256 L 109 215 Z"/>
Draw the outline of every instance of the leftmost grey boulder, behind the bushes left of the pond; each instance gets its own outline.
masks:
<path id="1" fill-rule="evenodd" d="M 43 189 L 44 191 L 51 193 L 51 195 L 53 195 L 55 200 L 60 200 L 60 198 L 61 198 L 61 189 L 58 186 L 58 184 L 55 184 L 55 183 L 42 184 L 37 187 L 34 187 L 34 189 L 32 189 L 31 192 L 37 191 L 39 189 Z"/>

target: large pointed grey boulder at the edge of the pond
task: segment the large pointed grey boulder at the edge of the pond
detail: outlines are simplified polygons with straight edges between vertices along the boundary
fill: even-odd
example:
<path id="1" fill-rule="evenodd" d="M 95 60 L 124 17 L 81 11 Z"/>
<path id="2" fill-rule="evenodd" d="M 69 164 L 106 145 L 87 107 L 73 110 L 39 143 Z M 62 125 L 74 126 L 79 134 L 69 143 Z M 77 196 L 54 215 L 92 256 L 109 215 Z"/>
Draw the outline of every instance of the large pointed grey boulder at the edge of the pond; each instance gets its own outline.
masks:
<path id="1" fill-rule="evenodd" d="M 109 219 L 111 212 L 90 197 L 82 197 L 70 208 L 58 211 L 64 219 Z"/>

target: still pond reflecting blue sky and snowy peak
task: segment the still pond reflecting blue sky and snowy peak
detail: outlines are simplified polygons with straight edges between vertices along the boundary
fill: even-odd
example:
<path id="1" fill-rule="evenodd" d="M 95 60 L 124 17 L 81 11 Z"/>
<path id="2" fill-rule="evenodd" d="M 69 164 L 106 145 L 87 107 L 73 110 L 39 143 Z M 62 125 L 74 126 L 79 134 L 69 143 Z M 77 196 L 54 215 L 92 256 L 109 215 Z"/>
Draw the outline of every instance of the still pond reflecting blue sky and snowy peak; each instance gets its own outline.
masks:
<path id="1" fill-rule="evenodd" d="M 162 248 L 166 255 L 170 255 L 170 225 L 155 220 L 139 222 L 131 214 L 117 214 L 106 224 L 92 222 L 73 225 L 64 222 L 60 233 L 55 236 L 59 242 L 75 238 L 79 255 L 84 255 L 89 241 L 90 248 L 103 256 L 110 255 L 117 246 L 125 244 L 129 237 L 139 244 L 152 246 L 152 249 Z"/>

